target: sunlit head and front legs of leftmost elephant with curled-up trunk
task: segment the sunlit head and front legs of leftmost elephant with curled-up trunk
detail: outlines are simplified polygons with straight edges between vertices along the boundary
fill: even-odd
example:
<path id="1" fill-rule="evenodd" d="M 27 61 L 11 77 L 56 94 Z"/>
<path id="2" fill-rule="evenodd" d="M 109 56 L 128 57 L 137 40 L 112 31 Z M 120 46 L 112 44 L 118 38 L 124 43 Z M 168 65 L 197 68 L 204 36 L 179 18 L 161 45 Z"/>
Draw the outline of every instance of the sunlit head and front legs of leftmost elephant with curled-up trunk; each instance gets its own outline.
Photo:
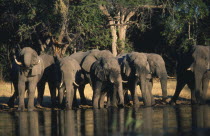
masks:
<path id="1" fill-rule="evenodd" d="M 18 110 L 23 111 L 25 109 L 24 96 L 27 88 L 29 94 L 28 110 L 32 111 L 36 86 L 44 73 L 44 62 L 30 47 L 21 50 L 18 62 L 22 63 L 22 65 L 19 63 L 21 66 L 18 70 Z"/>

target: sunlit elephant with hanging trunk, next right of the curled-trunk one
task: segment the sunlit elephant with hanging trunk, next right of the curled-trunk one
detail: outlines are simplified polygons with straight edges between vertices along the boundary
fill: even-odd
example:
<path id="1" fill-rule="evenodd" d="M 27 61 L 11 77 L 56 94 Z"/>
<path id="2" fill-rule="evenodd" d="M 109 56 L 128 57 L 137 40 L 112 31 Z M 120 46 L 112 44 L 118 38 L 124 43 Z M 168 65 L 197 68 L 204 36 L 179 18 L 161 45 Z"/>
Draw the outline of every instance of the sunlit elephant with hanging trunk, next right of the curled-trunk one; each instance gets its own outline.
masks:
<path id="1" fill-rule="evenodd" d="M 66 90 L 65 108 L 69 110 L 72 109 L 73 98 L 76 98 L 76 89 L 79 85 L 84 84 L 84 75 L 78 62 L 70 56 L 58 58 L 58 61 L 61 72 L 61 86 L 58 91 L 59 104 L 63 103 L 64 91 Z M 74 99 L 74 101 L 76 100 Z"/>

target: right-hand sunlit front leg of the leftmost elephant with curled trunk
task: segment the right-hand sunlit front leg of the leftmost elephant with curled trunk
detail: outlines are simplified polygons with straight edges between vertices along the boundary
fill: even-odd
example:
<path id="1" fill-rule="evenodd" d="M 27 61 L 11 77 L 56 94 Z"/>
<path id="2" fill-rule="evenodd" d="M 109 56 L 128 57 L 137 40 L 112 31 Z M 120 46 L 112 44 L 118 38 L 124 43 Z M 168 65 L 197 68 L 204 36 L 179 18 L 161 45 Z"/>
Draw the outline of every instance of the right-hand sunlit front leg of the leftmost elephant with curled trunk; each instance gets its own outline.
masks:
<path id="1" fill-rule="evenodd" d="M 35 95 L 36 86 L 37 83 L 35 81 L 29 83 L 28 111 L 34 110 L 34 95 Z"/>

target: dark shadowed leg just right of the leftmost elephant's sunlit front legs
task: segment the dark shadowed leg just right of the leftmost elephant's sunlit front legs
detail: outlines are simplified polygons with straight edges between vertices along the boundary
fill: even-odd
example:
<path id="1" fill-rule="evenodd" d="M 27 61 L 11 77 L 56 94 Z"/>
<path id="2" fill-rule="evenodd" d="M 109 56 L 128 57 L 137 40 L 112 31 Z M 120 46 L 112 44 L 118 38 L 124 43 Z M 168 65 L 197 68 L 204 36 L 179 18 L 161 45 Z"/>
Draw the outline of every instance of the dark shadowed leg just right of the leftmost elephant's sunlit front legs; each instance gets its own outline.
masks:
<path id="1" fill-rule="evenodd" d="M 37 84 L 38 98 L 37 98 L 36 107 L 40 107 L 42 105 L 43 96 L 44 96 L 44 89 L 45 89 L 45 82 L 39 82 Z"/>

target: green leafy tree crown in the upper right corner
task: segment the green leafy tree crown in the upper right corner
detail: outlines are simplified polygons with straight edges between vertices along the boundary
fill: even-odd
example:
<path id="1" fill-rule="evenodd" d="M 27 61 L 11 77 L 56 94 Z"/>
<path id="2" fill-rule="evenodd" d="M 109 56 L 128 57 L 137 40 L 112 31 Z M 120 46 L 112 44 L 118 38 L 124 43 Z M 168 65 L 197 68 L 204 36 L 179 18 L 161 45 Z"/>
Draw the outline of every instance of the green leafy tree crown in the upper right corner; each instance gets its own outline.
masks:
<path id="1" fill-rule="evenodd" d="M 170 15 L 163 18 L 165 36 L 169 45 L 187 48 L 189 44 L 197 44 L 200 34 L 198 27 L 202 19 L 208 16 L 207 5 L 202 0 L 173 1 Z"/>

